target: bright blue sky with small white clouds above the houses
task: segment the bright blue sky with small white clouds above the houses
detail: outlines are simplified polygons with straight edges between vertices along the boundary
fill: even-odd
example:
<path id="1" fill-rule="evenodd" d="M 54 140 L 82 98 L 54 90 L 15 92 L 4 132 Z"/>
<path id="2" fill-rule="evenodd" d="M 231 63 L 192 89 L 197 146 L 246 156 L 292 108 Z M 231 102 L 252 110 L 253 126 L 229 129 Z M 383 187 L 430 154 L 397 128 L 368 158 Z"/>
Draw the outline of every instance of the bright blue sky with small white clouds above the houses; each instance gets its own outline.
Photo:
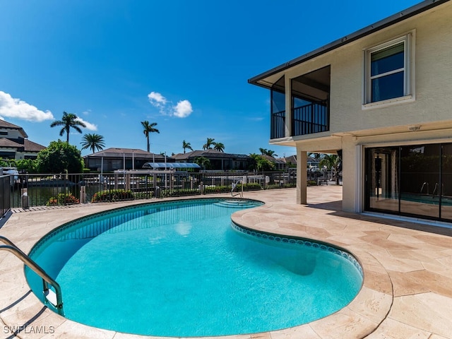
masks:
<path id="1" fill-rule="evenodd" d="M 47 146 L 64 111 L 105 148 L 295 154 L 268 145 L 268 69 L 420 1 L 0 0 L 0 117 Z M 83 134 L 69 142 L 81 148 Z M 83 150 L 83 155 L 90 153 Z"/>

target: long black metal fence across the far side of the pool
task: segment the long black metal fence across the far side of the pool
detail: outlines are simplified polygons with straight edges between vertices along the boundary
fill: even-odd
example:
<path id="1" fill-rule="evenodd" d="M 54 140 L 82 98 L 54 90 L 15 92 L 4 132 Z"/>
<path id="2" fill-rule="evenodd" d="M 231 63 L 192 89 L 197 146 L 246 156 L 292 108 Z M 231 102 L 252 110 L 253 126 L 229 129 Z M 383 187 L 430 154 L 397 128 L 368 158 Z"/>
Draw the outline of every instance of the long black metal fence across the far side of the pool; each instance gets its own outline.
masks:
<path id="1" fill-rule="evenodd" d="M 171 196 L 295 187 L 294 172 L 129 171 L 111 174 L 18 174 L 5 176 L 7 208 L 60 206 Z M 0 182 L 1 184 L 1 182 Z"/>

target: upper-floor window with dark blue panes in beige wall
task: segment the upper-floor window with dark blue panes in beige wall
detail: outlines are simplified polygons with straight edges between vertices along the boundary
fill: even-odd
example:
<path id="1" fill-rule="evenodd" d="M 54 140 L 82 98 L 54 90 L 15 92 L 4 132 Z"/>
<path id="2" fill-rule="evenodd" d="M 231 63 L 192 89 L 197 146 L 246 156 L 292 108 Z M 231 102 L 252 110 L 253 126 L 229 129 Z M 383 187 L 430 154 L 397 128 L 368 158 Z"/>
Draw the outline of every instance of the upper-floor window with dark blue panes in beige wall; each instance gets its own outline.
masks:
<path id="1" fill-rule="evenodd" d="M 364 105 L 412 95 L 410 35 L 367 49 Z"/>

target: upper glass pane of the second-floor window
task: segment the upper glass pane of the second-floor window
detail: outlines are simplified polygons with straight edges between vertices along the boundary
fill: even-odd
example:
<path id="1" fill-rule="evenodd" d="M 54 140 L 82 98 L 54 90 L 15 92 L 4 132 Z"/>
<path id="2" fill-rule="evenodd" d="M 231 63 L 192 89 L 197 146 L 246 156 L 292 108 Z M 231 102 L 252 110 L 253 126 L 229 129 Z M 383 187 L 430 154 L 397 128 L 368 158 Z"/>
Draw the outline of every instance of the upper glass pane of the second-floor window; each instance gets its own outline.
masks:
<path id="1" fill-rule="evenodd" d="M 371 54 L 371 76 L 402 69 L 405 64 L 403 42 Z"/>

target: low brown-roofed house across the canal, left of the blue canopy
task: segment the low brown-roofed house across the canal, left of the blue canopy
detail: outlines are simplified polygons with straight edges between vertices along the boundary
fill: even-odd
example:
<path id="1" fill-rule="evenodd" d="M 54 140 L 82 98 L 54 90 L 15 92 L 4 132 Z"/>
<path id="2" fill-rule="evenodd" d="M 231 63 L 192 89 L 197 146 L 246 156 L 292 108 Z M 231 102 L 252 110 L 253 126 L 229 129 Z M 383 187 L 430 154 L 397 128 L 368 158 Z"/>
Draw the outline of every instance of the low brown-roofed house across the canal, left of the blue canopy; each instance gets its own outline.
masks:
<path id="1" fill-rule="evenodd" d="M 142 169 L 145 162 L 165 162 L 165 155 L 131 148 L 107 148 L 85 155 L 83 160 L 85 168 L 92 171 L 112 172 L 117 169 Z M 166 162 L 174 162 L 174 159 L 166 157 Z"/>

